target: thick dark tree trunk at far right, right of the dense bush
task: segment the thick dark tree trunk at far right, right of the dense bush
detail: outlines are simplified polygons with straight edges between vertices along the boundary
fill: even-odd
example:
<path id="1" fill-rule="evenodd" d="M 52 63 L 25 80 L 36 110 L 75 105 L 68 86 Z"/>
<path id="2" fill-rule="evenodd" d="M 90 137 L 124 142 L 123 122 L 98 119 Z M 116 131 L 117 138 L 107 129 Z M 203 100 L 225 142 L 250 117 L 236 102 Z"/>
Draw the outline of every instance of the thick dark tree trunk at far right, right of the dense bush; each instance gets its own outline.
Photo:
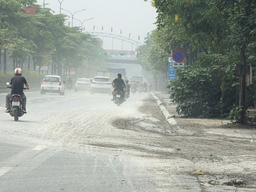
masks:
<path id="1" fill-rule="evenodd" d="M 247 70 L 247 64 L 246 64 L 246 57 L 245 57 L 245 51 L 243 49 L 240 49 L 241 54 L 241 62 L 242 62 L 242 68 L 241 68 L 241 74 L 239 76 L 239 106 L 242 107 L 242 111 L 240 112 L 240 119 L 239 123 L 245 123 L 245 117 L 246 117 L 246 99 L 245 99 L 245 78 L 246 78 L 246 70 Z"/>

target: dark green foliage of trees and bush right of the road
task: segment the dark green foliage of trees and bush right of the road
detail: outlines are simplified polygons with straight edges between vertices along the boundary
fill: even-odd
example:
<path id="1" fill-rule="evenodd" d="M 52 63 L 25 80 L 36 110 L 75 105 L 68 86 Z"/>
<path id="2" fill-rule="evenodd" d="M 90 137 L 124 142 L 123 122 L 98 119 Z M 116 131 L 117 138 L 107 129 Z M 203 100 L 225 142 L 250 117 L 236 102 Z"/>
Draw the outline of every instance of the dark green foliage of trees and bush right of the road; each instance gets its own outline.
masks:
<path id="1" fill-rule="evenodd" d="M 166 53 L 170 57 L 171 50 L 185 53 L 186 66 L 190 67 L 177 70 L 179 79 L 171 82 L 171 99 L 179 102 L 177 111 L 185 116 L 219 117 L 221 112 L 227 116 L 233 105 L 239 105 L 240 123 L 245 122 L 248 101 L 245 93 L 250 90 L 247 98 L 255 98 L 252 95 L 256 86 L 245 88 L 245 73 L 237 76 L 235 69 L 241 65 L 243 71 L 251 64 L 255 80 L 255 0 L 151 0 L 151 3 L 158 13 L 157 30 L 149 35 L 154 43 L 138 50 L 149 53 L 158 44 L 162 57 Z M 154 59 L 140 60 L 148 62 L 148 69 L 158 69 L 154 66 L 156 62 L 149 62 L 158 60 L 158 56 L 148 54 L 147 57 Z M 167 61 L 162 68 L 167 69 Z"/>

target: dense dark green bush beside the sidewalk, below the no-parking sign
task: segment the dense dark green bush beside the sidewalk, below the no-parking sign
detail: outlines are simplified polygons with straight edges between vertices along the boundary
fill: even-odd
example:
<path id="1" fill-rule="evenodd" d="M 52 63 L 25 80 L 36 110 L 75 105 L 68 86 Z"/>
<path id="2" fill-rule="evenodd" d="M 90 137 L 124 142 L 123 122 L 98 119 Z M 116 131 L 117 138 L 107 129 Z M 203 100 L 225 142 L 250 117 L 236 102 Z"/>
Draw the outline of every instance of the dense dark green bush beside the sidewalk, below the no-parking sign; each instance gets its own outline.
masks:
<path id="1" fill-rule="evenodd" d="M 177 69 L 170 81 L 170 99 L 184 117 L 227 117 L 236 102 L 235 64 L 227 58 L 201 53 L 194 66 Z M 221 108 L 222 106 L 222 108 Z"/>

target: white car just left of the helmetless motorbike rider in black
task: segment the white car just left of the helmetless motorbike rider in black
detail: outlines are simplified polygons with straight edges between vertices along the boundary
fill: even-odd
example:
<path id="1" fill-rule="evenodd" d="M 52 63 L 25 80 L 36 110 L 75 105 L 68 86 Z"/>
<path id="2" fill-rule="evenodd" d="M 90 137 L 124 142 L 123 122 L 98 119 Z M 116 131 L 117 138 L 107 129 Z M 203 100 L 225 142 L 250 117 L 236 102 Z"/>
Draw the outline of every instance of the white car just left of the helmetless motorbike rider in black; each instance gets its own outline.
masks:
<path id="1" fill-rule="evenodd" d="M 109 77 L 95 77 L 91 82 L 90 93 L 108 93 L 111 95 L 113 91 L 111 80 Z"/>

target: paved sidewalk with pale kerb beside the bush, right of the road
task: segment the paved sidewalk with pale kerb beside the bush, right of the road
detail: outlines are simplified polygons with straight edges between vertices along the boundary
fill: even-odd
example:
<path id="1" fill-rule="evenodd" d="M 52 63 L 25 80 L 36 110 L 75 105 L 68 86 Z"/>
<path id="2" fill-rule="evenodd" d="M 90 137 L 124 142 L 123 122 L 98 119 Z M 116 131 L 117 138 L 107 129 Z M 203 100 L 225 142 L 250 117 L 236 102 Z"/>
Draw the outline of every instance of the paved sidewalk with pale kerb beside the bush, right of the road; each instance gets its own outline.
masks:
<path id="1" fill-rule="evenodd" d="M 207 135 L 215 134 L 226 137 L 239 137 L 256 142 L 256 126 L 230 124 L 230 120 L 227 119 L 180 118 L 176 112 L 177 104 L 170 101 L 170 95 L 168 93 L 151 92 L 151 94 L 158 102 L 166 121 L 172 126 L 177 126 L 177 131 L 180 134 L 191 135 L 191 132 L 195 134 L 199 128 L 202 133 Z"/>

